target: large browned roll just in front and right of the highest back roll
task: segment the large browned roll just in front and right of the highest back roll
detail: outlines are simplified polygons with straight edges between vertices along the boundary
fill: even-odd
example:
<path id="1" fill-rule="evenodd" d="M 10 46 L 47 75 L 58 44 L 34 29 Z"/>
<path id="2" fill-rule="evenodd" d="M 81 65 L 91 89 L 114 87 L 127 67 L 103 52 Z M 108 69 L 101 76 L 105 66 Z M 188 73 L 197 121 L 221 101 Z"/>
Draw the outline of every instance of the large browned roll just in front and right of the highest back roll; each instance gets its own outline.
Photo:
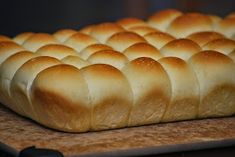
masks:
<path id="1" fill-rule="evenodd" d="M 167 32 L 177 38 L 184 38 L 195 32 L 212 31 L 212 26 L 212 21 L 207 15 L 187 13 L 173 20 Z"/>

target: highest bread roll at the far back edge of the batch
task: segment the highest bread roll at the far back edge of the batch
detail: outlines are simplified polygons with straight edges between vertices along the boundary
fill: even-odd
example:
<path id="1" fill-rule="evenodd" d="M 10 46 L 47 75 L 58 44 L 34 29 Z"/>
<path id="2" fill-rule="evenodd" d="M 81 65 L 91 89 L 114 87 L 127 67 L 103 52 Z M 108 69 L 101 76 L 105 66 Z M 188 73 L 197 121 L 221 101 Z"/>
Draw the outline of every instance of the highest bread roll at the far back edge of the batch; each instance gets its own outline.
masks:
<path id="1" fill-rule="evenodd" d="M 154 13 L 148 19 L 148 24 L 161 31 L 166 31 L 170 23 L 183 13 L 175 9 L 165 9 Z"/>

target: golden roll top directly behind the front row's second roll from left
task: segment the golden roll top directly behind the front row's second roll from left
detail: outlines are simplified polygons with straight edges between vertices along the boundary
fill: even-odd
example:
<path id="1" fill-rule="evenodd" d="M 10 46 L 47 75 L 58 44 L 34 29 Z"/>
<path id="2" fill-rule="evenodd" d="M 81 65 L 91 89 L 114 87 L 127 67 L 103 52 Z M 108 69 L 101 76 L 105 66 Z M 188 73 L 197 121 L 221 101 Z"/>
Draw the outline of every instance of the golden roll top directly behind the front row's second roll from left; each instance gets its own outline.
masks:
<path id="1" fill-rule="evenodd" d="M 92 54 L 88 59 L 92 64 L 108 64 L 112 65 L 117 69 L 122 69 L 122 67 L 128 62 L 127 57 L 114 50 L 101 50 Z"/>

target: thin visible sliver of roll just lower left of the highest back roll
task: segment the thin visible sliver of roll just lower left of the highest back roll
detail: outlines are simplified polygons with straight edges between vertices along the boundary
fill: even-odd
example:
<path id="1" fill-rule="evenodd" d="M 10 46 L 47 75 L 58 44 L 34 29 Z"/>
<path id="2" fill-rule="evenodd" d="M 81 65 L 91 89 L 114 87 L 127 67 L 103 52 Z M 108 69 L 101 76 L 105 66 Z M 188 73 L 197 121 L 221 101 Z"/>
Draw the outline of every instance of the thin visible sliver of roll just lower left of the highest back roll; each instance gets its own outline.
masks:
<path id="1" fill-rule="evenodd" d="M 130 32 L 134 32 L 136 34 L 139 34 L 140 36 L 144 36 L 149 33 L 155 33 L 159 32 L 158 29 L 149 27 L 149 26 L 136 26 L 136 27 L 131 27 L 128 29 Z"/>

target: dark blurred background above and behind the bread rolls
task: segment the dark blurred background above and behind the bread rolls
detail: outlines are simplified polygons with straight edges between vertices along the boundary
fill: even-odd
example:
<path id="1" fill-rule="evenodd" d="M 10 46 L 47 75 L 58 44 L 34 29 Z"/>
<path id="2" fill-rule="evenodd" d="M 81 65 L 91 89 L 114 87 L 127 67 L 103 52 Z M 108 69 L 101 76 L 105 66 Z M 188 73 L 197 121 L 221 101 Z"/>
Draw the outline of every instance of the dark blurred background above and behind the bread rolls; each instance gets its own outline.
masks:
<path id="1" fill-rule="evenodd" d="M 147 18 L 155 11 L 176 8 L 225 16 L 235 0 L 0 0 L 0 34 L 25 31 L 53 33 L 122 17 Z"/>

